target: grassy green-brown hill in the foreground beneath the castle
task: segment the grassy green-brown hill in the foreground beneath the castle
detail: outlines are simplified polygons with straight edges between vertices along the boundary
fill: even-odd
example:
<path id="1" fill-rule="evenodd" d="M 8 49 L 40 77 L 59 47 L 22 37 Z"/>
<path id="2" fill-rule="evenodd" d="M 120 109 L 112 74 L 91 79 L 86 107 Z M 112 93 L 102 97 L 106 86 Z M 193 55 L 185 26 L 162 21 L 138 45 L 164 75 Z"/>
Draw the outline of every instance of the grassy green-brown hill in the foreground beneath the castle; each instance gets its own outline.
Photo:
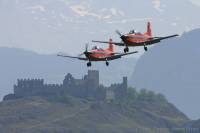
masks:
<path id="1" fill-rule="evenodd" d="M 0 103 L 1 132 L 156 133 L 163 129 L 171 133 L 189 121 L 167 101 L 125 101 L 95 102 L 70 96 L 4 101 Z"/>

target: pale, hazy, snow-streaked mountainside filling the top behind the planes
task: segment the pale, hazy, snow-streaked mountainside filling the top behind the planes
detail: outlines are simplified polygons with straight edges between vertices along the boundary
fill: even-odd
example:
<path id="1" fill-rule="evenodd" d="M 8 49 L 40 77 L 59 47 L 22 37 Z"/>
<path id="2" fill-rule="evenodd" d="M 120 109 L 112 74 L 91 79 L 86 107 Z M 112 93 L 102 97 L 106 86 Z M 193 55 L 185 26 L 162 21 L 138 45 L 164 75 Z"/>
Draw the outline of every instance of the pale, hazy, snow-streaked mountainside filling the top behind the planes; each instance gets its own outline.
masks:
<path id="1" fill-rule="evenodd" d="M 183 33 L 199 26 L 198 12 L 194 0 L 1 0 L 0 46 L 74 54 L 93 39 L 120 41 L 116 29 L 144 31 L 147 21 L 155 36 Z"/>

